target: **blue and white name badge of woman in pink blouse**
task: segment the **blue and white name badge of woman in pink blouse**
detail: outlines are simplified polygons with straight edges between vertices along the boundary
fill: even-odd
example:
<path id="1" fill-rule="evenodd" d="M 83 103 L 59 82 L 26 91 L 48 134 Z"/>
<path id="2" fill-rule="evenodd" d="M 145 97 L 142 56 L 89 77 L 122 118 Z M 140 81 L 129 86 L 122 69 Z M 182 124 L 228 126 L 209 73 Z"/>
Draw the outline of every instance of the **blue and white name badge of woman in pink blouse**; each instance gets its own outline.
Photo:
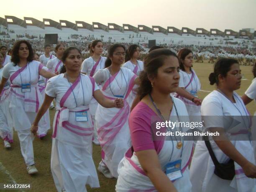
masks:
<path id="1" fill-rule="evenodd" d="M 166 175 L 171 181 L 183 177 L 181 172 L 181 159 L 166 164 Z"/>

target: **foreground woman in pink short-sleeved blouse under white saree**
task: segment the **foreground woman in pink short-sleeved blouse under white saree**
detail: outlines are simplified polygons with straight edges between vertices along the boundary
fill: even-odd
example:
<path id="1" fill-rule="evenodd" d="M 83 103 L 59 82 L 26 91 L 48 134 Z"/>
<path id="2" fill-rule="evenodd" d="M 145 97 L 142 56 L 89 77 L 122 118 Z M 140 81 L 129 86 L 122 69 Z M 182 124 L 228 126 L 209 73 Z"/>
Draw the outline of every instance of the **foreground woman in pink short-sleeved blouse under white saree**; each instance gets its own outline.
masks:
<path id="1" fill-rule="evenodd" d="M 145 58 L 140 80 L 141 101 L 129 117 L 132 148 L 118 166 L 116 191 L 189 192 L 192 141 L 159 136 L 166 131 L 184 132 L 184 127 L 155 126 L 160 121 L 189 122 L 184 103 L 170 96 L 179 87 L 179 61 L 175 53 L 168 49 L 151 51 Z"/>

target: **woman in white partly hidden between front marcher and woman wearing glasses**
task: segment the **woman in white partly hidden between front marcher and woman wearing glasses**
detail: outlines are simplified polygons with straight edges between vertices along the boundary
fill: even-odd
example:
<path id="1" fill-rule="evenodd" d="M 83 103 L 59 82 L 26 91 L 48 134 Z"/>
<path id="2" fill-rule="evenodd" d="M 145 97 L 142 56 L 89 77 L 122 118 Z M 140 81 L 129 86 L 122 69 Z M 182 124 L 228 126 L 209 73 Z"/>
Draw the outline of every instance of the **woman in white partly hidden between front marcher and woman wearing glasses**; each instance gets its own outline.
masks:
<path id="1" fill-rule="evenodd" d="M 105 67 L 106 57 L 102 57 L 103 51 L 103 43 L 101 40 L 94 40 L 90 44 L 90 56 L 89 58 L 85 59 L 82 63 L 81 72 L 87 74 L 88 76 L 93 76 L 97 71 L 103 69 Z M 100 88 L 100 85 L 99 85 Z M 93 132 L 93 143 L 99 145 L 98 136 L 97 136 L 97 128 L 95 122 L 95 112 L 97 109 L 98 103 L 93 98 L 90 103 L 90 112 L 92 114 L 92 119 L 94 122 L 94 132 Z"/>

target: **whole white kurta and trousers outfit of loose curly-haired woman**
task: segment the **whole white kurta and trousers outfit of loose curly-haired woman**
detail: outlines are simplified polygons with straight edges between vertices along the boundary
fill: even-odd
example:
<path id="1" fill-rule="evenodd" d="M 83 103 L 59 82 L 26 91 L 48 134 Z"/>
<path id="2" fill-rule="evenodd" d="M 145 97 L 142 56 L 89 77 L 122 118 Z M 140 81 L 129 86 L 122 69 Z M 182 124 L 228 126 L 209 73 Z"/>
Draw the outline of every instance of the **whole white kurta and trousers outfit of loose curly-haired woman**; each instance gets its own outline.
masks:
<path id="1" fill-rule="evenodd" d="M 39 71 L 42 68 L 40 62 L 31 61 L 22 68 L 18 65 L 14 66 L 14 63 L 8 63 L 3 69 L 3 77 L 10 78 L 11 82 L 8 96 L 9 109 L 14 129 L 18 131 L 20 150 L 27 166 L 34 164 L 33 135 L 30 128 L 42 104 L 42 96 L 37 84 Z M 30 84 L 28 92 L 22 91 L 22 84 Z M 38 126 L 41 126 L 41 122 Z"/>

